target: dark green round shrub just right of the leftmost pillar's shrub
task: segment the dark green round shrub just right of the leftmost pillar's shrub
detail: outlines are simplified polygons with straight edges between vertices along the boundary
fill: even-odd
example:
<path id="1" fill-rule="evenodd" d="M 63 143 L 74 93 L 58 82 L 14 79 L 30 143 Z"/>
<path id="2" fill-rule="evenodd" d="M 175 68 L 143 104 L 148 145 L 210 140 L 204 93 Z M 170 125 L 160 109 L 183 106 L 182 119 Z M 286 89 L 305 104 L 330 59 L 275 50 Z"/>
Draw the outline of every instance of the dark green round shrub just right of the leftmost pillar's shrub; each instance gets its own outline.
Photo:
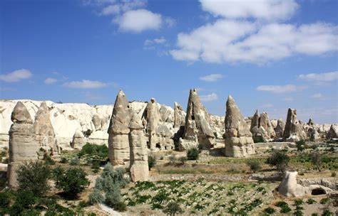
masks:
<path id="1" fill-rule="evenodd" d="M 71 198 L 76 198 L 89 185 L 86 173 L 81 168 L 68 168 L 67 170 L 57 167 L 53 170 L 53 179 L 56 188 Z"/>

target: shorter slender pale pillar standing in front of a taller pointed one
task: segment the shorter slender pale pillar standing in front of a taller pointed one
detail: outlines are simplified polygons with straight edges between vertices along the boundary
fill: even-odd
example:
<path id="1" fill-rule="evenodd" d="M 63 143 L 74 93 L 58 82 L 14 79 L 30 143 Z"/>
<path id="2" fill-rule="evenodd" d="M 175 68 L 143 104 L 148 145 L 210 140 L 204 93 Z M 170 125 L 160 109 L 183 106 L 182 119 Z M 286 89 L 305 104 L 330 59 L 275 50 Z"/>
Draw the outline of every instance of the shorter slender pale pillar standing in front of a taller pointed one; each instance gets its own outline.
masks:
<path id="1" fill-rule="evenodd" d="M 148 148 L 142 121 L 138 114 L 133 114 L 129 129 L 130 178 L 133 182 L 146 181 L 149 177 Z"/>

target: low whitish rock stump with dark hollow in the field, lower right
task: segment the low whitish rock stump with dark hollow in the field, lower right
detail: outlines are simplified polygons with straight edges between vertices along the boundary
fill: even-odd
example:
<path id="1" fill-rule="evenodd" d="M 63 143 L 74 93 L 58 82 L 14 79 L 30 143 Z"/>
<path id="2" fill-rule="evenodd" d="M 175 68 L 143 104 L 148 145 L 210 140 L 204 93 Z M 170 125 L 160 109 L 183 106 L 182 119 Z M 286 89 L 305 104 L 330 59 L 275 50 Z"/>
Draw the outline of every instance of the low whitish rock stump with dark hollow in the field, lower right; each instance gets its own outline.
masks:
<path id="1" fill-rule="evenodd" d="M 304 187 L 297 183 L 297 172 L 286 171 L 282 182 L 278 186 L 278 192 L 286 197 L 299 197 L 304 195 L 317 195 L 316 193 L 330 193 L 332 190 L 322 185 L 309 185 Z"/>

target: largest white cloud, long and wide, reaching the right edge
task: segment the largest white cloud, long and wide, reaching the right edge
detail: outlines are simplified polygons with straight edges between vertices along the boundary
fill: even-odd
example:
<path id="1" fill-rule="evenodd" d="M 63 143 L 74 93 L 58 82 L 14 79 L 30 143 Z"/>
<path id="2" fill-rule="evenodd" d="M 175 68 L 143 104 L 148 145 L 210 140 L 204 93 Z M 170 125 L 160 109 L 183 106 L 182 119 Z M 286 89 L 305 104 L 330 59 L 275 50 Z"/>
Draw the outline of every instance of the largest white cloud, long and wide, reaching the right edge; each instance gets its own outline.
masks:
<path id="1" fill-rule="evenodd" d="M 179 33 L 177 46 L 170 50 L 175 60 L 263 64 L 292 55 L 337 51 L 338 27 L 328 23 L 260 25 L 219 19 L 190 33 Z"/>

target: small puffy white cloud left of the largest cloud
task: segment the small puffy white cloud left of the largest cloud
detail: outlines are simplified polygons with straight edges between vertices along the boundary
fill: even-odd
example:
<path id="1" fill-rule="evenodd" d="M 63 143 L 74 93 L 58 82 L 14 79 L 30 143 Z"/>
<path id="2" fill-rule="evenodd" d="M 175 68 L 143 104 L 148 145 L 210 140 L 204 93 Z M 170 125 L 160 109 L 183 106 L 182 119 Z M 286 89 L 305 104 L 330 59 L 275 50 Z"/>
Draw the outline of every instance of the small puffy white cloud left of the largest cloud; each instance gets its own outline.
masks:
<path id="1" fill-rule="evenodd" d="M 159 13 L 153 13 L 145 9 L 127 11 L 116 19 L 121 31 L 140 33 L 146 30 L 156 30 L 162 26 L 162 18 Z"/>

